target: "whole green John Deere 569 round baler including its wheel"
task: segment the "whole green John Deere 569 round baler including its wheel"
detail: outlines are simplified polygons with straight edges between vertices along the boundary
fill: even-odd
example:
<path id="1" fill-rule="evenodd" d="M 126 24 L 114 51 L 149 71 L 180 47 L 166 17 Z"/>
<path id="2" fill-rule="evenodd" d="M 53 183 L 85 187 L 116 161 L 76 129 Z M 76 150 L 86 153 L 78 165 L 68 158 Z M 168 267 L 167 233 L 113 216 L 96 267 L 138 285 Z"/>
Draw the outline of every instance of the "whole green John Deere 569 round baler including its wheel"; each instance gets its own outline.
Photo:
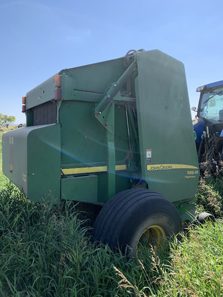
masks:
<path id="1" fill-rule="evenodd" d="M 184 66 L 158 50 L 64 69 L 23 98 L 3 173 L 32 201 L 103 205 L 93 236 L 158 245 L 191 220 L 198 186 Z"/>

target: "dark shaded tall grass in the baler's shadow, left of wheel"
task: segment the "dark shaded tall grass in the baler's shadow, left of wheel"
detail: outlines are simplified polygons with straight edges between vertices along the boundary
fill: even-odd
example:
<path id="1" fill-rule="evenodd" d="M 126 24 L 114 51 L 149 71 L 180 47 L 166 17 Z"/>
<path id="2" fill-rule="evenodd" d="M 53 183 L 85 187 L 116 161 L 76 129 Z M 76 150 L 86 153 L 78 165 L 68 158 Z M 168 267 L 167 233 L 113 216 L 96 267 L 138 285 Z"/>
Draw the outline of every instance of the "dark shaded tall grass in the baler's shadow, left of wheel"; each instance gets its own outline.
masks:
<path id="1" fill-rule="evenodd" d="M 92 244 L 72 202 L 32 203 L 8 184 L 0 217 L 0 296 L 126 296 L 114 267 L 145 280 L 137 261 Z"/>

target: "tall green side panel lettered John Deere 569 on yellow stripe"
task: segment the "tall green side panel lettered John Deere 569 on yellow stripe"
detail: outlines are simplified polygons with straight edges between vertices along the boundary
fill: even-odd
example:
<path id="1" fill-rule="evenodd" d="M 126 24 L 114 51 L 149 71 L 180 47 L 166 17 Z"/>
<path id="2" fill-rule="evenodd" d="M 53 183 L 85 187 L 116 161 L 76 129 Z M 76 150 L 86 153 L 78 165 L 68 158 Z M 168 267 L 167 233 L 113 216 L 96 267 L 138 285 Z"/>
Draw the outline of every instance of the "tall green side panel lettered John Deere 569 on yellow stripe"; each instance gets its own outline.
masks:
<path id="1" fill-rule="evenodd" d="M 142 178 L 169 201 L 193 198 L 199 169 L 184 65 L 142 52 L 136 90 Z"/>

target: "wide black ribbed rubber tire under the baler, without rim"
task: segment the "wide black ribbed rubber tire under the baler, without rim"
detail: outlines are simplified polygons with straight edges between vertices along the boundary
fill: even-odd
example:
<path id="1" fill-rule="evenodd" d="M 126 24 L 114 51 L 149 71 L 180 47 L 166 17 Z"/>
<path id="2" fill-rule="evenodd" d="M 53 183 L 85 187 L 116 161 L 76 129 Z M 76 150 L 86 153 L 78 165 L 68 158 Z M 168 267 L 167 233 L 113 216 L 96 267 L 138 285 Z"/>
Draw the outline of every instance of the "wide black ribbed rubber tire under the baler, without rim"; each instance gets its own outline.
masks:
<path id="1" fill-rule="evenodd" d="M 136 251 L 140 235 L 149 226 L 158 225 L 167 238 L 178 234 L 182 220 L 177 208 L 158 192 L 131 189 L 112 197 L 98 214 L 92 236 L 110 248 Z"/>

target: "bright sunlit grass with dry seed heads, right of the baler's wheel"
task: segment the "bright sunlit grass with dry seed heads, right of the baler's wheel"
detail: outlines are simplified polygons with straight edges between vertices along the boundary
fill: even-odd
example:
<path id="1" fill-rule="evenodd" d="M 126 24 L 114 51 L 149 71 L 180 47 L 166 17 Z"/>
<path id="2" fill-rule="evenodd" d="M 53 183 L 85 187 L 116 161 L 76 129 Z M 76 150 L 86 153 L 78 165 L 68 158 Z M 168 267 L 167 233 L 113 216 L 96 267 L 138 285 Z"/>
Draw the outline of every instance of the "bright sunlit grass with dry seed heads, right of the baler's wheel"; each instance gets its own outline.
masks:
<path id="1" fill-rule="evenodd" d="M 187 236 L 171 243 L 169 261 L 161 261 L 154 252 L 151 270 L 140 287 L 117 270 L 119 287 L 127 296 L 149 297 L 220 297 L 223 296 L 223 222 L 206 223 L 189 230 Z M 139 261 L 142 274 L 148 274 L 146 261 Z M 156 290 L 151 290 L 151 285 Z"/>

